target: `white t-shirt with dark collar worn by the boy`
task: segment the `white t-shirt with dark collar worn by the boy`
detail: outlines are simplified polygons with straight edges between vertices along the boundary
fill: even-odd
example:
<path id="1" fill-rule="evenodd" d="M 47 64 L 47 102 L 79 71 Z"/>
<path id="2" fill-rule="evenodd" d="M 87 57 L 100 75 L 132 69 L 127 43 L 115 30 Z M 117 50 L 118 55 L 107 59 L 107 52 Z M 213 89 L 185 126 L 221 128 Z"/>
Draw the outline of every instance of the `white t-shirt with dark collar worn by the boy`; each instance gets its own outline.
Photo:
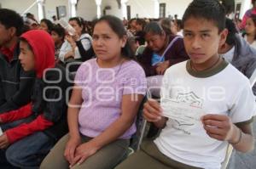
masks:
<path id="1" fill-rule="evenodd" d="M 249 121 L 256 112 L 253 92 L 246 76 L 224 62 L 207 77 L 189 71 L 189 61 L 172 65 L 163 78 L 161 96 L 201 108 L 206 114 L 229 115 L 233 123 Z M 219 67 L 219 66 L 218 66 Z M 154 140 L 160 152 L 189 166 L 219 169 L 228 142 L 210 138 L 201 121 L 188 123 L 169 119 Z"/>

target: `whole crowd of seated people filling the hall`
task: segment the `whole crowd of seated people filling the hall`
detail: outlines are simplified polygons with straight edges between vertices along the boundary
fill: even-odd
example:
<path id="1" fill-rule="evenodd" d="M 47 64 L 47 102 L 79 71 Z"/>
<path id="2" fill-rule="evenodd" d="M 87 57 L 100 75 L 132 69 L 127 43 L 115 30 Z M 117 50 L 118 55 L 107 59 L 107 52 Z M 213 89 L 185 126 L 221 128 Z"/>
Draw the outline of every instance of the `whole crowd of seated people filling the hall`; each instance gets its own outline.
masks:
<path id="1" fill-rule="evenodd" d="M 253 150 L 253 14 L 238 30 L 194 0 L 182 20 L 60 23 L 0 8 L 0 168 L 219 169 L 229 144 Z M 141 104 L 160 132 L 128 156 Z"/>

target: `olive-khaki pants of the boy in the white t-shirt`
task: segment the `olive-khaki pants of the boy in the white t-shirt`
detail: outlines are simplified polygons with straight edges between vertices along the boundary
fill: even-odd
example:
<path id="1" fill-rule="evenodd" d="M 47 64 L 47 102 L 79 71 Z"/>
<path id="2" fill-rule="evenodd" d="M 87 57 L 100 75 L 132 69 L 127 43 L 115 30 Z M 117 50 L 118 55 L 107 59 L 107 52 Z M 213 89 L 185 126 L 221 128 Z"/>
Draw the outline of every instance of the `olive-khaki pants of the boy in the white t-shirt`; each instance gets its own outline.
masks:
<path id="1" fill-rule="evenodd" d="M 173 161 L 160 150 L 152 141 L 144 141 L 141 150 L 131 155 L 115 169 L 198 169 Z"/>

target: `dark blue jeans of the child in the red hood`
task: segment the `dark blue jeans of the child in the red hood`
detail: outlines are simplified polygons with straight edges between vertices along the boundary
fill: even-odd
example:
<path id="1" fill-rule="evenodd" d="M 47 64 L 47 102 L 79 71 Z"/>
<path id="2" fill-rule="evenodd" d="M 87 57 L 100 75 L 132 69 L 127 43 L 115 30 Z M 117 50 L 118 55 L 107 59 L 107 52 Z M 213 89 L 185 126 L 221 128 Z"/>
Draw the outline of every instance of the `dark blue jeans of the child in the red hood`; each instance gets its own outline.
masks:
<path id="1" fill-rule="evenodd" d="M 0 127 L 5 131 L 29 121 L 32 119 L 15 121 L 0 125 Z M 11 144 L 7 149 L 0 149 L 0 168 L 38 168 L 54 144 L 44 132 L 34 132 L 32 135 Z"/>

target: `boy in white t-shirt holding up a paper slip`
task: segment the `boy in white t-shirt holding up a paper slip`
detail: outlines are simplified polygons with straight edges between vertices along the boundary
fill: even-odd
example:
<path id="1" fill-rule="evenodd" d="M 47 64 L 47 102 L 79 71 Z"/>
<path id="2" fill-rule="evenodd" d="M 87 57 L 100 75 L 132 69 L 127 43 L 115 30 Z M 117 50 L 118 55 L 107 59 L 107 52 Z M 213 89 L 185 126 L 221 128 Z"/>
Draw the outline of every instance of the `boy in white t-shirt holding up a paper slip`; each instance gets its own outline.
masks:
<path id="1" fill-rule="evenodd" d="M 253 149 L 254 96 L 248 79 L 218 55 L 224 27 L 217 0 L 189 4 L 183 35 L 190 59 L 166 70 L 160 104 L 144 104 L 145 119 L 163 128 L 160 136 L 117 169 L 219 169 L 228 144 L 241 152 Z"/>

